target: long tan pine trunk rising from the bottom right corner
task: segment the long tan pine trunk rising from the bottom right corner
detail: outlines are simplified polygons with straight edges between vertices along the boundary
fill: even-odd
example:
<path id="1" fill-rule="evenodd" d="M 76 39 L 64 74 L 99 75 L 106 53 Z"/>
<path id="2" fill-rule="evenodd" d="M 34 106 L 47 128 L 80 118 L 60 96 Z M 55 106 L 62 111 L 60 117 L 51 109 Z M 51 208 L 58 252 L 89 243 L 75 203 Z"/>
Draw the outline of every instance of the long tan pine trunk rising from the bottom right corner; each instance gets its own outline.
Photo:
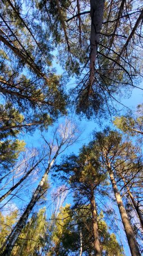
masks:
<path id="1" fill-rule="evenodd" d="M 120 193 L 118 191 L 118 188 L 116 186 L 116 181 L 114 179 L 114 174 L 113 174 L 110 167 L 109 167 L 109 174 L 110 174 L 110 179 L 111 179 L 111 183 L 112 183 L 112 188 L 113 188 L 113 191 L 114 191 L 114 194 L 115 194 L 115 197 L 116 197 L 116 202 L 118 204 L 118 208 L 119 208 L 119 211 L 120 211 L 120 216 L 122 218 L 122 222 L 123 222 L 123 225 L 124 225 L 125 234 L 127 236 L 129 248 L 131 250 L 131 254 L 132 254 L 132 256 L 141 256 L 140 251 L 138 249 L 138 245 L 137 245 L 135 236 L 133 234 L 131 224 L 128 220 L 127 212 L 124 208 L 122 198 L 121 198 Z"/>

